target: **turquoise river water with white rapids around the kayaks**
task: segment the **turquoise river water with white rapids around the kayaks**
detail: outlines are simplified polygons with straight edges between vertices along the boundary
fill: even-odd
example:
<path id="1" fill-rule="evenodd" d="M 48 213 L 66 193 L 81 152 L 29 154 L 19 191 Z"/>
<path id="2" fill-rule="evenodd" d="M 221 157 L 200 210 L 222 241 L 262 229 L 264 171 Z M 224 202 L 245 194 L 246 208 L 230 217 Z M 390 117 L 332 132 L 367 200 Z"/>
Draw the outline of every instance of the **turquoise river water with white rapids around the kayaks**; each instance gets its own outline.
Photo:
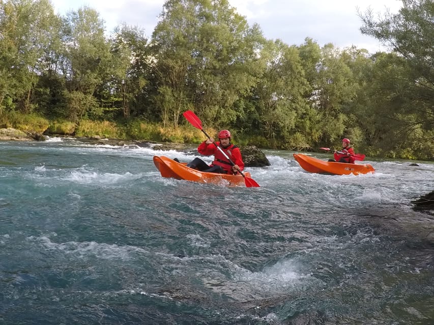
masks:
<path id="1" fill-rule="evenodd" d="M 153 164 L 192 151 L 0 149 L 0 324 L 433 323 L 434 217 L 410 203 L 432 163 L 327 176 L 269 150 L 261 187 L 230 188 Z"/>

